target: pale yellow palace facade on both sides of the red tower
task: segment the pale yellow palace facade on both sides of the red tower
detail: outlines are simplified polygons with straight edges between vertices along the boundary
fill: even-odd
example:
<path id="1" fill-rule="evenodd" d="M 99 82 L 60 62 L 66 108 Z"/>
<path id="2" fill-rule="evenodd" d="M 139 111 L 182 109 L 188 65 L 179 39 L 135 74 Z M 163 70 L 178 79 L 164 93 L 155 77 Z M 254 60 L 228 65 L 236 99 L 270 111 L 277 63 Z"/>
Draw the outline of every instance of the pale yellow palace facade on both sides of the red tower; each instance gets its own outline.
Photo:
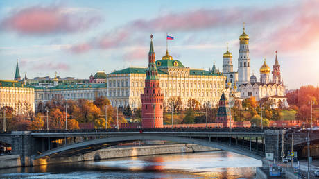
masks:
<path id="1" fill-rule="evenodd" d="M 167 103 L 171 96 L 180 96 L 183 108 L 187 108 L 190 98 L 198 100 L 202 105 L 209 101 L 214 106 L 225 92 L 225 76 L 189 75 L 189 68 L 172 68 L 168 73 L 159 74 L 164 103 Z M 146 74 L 109 74 L 107 98 L 110 99 L 111 105 L 130 104 L 132 108 L 140 108 L 145 78 Z"/>

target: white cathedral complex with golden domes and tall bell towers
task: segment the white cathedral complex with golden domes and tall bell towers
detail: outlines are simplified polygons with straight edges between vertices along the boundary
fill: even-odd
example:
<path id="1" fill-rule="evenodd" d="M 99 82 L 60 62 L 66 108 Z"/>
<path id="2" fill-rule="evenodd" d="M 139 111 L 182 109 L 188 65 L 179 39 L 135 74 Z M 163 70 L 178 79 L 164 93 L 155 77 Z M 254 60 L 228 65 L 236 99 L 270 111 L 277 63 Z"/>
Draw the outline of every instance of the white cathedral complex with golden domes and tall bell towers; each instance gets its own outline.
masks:
<path id="1" fill-rule="evenodd" d="M 228 46 L 227 51 L 223 54 L 223 74 L 227 77 L 226 83 L 229 87 L 230 101 L 234 96 L 240 96 L 239 99 L 242 100 L 254 96 L 258 101 L 263 98 L 270 98 L 273 99 L 275 104 L 281 101 L 285 106 L 288 106 L 284 97 L 286 87 L 281 78 L 277 51 L 273 65 L 273 78 L 270 78 L 270 71 L 271 69 L 265 58 L 259 69 L 259 81 L 255 74 L 250 76 L 249 36 L 245 33 L 244 27 L 243 33 L 239 36 L 238 71 L 233 71 L 232 53 L 228 50 Z M 238 88 L 236 85 L 238 85 Z M 273 106 L 273 108 L 276 107 Z"/>

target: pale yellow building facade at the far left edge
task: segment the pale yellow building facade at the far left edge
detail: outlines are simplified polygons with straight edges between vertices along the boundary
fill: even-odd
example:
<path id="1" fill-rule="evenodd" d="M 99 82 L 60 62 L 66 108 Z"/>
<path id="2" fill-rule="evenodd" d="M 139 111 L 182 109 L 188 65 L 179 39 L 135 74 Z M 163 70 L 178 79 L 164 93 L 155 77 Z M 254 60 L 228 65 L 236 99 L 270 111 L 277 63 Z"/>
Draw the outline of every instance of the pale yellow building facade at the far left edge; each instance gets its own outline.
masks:
<path id="1" fill-rule="evenodd" d="M 17 103 L 27 102 L 32 112 L 35 111 L 35 91 L 30 87 L 0 86 L 0 108 L 10 106 L 15 110 Z"/>

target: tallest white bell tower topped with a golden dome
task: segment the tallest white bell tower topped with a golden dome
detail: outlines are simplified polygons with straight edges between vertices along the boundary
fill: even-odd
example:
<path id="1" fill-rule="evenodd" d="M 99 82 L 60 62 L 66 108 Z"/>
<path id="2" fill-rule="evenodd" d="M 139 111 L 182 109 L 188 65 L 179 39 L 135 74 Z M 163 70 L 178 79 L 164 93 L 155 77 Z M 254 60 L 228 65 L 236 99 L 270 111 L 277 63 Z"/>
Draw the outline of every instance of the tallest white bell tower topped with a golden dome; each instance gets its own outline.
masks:
<path id="1" fill-rule="evenodd" d="M 250 81 L 250 57 L 249 57 L 249 36 L 245 33 L 239 36 L 239 58 L 238 58 L 238 83 L 249 83 Z"/>

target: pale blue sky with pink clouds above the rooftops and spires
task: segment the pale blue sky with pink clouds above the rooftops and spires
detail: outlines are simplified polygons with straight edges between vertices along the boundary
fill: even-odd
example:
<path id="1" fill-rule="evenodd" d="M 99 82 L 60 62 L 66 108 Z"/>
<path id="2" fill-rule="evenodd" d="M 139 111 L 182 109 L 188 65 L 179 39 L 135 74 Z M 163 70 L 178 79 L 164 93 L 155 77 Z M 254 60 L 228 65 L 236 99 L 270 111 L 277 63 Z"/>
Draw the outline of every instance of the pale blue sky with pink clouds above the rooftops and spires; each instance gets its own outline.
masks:
<path id="1" fill-rule="evenodd" d="M 191 68 L 222 70 L 229 44 L 234 71 L 239 35 L 250 37 L 251 73 L 275 51 L 284 85 L 319 84 L 319 1 L 0 1 L 0 79 L 89 78 L 146 67 L 150 34 L 156 59 L 166 52 Z M 270 77 L 271 78 L 271 77 Z"/>

